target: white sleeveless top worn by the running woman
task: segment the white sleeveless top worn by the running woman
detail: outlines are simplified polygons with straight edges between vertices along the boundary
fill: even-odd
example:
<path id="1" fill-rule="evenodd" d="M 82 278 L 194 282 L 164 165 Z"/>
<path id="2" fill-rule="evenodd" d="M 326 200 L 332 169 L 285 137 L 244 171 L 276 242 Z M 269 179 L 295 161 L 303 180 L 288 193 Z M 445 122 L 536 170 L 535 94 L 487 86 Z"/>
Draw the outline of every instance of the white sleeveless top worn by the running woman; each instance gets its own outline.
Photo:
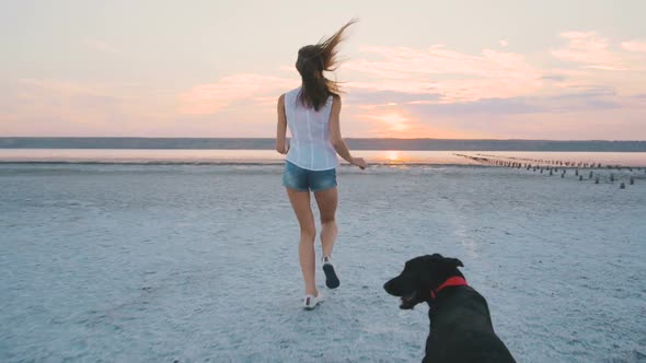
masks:
<path id="1" fill-rule="evenodd" d="M 291 133 L 287 161 L 309 171 L 327 171 L 338 166 L 330 141 L 332 96 L 319 110 L 298 99 L 300 87 L 285 94 L 285 114 Z"/>

